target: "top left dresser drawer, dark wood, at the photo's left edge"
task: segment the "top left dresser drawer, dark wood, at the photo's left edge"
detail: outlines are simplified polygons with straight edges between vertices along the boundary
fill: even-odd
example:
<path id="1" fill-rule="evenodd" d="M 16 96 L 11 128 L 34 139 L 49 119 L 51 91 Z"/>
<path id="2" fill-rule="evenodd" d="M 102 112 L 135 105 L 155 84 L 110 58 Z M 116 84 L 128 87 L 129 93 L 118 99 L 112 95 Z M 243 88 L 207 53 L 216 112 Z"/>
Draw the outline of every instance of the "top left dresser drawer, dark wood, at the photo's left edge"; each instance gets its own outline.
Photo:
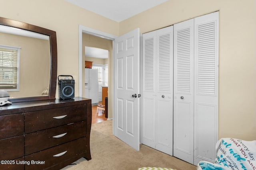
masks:
<path id="1" fill-rule="evenodd" d="M 0 116 L 0 139 L 23 135 L 24 114 Z"/>

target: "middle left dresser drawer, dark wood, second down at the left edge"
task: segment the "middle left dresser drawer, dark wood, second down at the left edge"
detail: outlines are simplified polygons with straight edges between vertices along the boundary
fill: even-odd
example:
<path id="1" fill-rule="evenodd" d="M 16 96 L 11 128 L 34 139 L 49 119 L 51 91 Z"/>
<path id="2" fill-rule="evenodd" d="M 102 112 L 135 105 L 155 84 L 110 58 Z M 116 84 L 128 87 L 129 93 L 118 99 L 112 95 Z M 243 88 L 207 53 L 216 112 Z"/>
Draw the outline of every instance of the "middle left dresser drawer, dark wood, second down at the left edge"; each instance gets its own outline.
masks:
<path id="1" fill-rule="evenodd" d="M 0 140 L 1 160 L 13 160 L 24 156 L 24 136 Z"/>

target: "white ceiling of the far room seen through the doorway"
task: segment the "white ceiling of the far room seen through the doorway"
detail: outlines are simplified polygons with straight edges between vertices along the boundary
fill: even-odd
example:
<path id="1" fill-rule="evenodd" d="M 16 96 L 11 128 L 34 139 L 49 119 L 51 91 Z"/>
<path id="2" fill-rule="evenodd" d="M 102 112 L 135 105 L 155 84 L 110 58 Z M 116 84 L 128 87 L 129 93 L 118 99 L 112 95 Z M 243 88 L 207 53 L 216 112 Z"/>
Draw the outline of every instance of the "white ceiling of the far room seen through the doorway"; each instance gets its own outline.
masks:
<path id="1" fill-rule="evenodd" d="M 99 48 L 95 48 L 95 47 L 85 47 L 85 56 L 100 58 L 100 59 L 107 59 L 108 58 L 108 50 L 99 49 Z"/>

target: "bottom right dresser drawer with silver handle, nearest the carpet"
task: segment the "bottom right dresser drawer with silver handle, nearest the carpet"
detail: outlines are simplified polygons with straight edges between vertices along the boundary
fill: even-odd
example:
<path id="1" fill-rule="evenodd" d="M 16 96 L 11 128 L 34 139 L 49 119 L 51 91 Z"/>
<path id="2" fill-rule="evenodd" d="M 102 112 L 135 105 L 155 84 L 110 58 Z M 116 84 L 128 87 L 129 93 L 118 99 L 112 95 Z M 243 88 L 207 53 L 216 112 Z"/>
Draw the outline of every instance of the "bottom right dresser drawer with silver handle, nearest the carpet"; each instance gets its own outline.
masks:
<path id="1" fill-rule="evenodd" d="M 25 169 L 46 169 L 79 155 L 86 155 L 86 137 L 25 156 L 25 161 L 30 161 L 30 165 L 25 165 Z"/>

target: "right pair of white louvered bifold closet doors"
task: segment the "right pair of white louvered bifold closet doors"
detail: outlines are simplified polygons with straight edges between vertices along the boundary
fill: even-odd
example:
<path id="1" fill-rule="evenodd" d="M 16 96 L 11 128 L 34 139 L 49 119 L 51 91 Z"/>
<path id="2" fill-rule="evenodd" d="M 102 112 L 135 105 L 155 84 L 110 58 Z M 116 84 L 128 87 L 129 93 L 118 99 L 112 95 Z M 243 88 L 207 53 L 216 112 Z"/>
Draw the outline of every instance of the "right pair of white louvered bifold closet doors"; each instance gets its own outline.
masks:
<path id="1" fill-rule="evenodd" d="M 193 40 L 194 39 L 194 40 Z M 174 25 L 174 156 L 214 162 L 218 140 L 218 12 Z"/>

